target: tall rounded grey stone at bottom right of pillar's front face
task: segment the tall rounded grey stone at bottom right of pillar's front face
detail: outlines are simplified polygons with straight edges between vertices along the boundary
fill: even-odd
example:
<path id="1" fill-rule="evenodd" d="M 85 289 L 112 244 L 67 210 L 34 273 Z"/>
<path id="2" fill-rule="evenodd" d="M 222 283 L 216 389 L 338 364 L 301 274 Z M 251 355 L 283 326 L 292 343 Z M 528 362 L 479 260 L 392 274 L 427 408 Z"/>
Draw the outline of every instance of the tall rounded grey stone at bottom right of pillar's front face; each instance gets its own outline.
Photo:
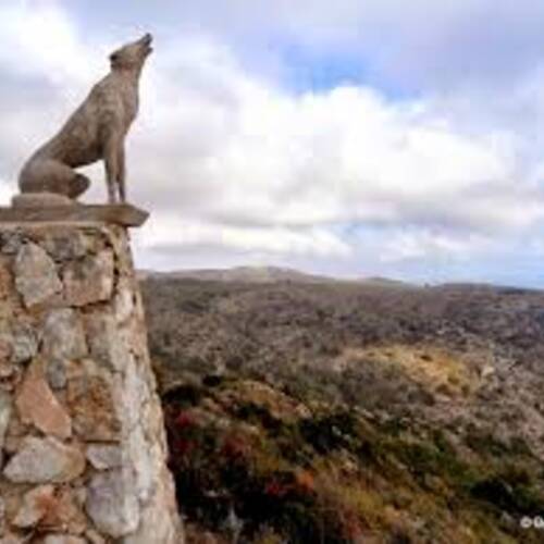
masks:
<path id="1" fill-rule="evenodd" d="M 114 539 L 138 528 L 139 505 L 128 470 L 96 474 L 87 490 L 86 510 L 99 531 Z"/>

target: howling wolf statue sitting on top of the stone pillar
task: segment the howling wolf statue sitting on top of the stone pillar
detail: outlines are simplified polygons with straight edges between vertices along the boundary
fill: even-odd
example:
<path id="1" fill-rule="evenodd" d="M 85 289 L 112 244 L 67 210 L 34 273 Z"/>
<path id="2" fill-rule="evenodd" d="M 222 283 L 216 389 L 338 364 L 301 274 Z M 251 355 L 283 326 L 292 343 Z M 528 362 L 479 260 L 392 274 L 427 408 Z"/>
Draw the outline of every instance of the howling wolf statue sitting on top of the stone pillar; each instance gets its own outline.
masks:
<path id="1" fill-rule="evenodd" d="M 125 137 L 138 113 L 139 78 L 151 41 L 147 34 L 110 55 L 110 73 L 23 166 L 18 177 L 23 196 L 49 194 L 75 200 L 90 183 L 75 169 L 103 159 L 109 202 L 126 200 Z"/>

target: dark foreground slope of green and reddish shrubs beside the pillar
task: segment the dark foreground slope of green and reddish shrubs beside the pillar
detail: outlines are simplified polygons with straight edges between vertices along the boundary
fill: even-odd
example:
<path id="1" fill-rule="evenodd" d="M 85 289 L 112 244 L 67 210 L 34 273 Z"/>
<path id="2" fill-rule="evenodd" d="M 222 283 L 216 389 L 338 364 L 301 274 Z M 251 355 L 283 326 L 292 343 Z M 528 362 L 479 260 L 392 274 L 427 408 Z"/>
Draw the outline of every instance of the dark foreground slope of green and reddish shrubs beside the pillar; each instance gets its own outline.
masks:
<path id="1" fill-rule="evenodd" d="M 510 542 L 519 527 L 498 524 L 500 516 L 544 509 L 542 481 L 528 472 L 540 465 L 521 450 L 495 458 L 475 441 L 465 459 L 435 430 L 347 407 L 304 410 L 262 382 L 174 390 L 164 407 L 191 535 L 211 531 L 228 541 L 234 516 L 243 542 L 429 542 L 442 532 L 460 544 L 483 535 Z"/>

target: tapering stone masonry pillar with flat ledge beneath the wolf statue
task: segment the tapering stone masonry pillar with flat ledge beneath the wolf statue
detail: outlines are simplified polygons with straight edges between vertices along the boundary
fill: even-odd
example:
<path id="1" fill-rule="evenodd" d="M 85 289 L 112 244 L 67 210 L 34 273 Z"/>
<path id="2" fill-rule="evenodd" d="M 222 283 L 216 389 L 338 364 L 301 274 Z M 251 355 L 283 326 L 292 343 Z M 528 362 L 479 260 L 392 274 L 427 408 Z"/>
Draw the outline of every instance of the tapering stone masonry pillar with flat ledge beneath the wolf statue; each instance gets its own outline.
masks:
<path id="1" fill-rule="evenodd" d="M 0 544 L 183 542 L 129 206 L 0 210 Z"/>

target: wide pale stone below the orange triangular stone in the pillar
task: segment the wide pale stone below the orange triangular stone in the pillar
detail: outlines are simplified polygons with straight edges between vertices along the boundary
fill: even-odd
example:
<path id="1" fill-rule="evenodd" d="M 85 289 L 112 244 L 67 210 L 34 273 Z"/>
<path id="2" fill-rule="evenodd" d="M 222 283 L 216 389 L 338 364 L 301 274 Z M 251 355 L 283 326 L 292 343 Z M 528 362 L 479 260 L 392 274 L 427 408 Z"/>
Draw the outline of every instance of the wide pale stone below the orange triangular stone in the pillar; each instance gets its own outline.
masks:
<path id="1" fill-rule="evenodd" d="M 71 482 L 85 470 L 85 457 L 73 446 L 55 438 L 27 436 L 10 460 L 4 477 L 15 483 Z"/>

